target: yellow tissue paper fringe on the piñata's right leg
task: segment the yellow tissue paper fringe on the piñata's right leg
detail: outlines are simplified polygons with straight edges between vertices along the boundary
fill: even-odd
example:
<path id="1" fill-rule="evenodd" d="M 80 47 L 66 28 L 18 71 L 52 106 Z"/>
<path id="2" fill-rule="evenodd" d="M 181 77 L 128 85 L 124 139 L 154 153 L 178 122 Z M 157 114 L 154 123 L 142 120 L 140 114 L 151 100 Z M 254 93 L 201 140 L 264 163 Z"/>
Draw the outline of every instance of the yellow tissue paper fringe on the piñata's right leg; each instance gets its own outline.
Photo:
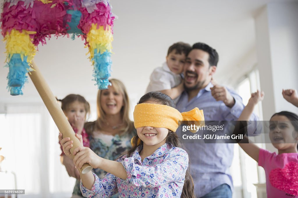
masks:
<path id="1" fill-rule="evenodd" d="M 90 61 L 94 57 L 94 49 L 97 49 L 97 52 L 100 52 L 100 54 L 105 51 L 112 52 L 111 43 L 113 41 L 113 34 L 111 32 L 111 26 L 107 25 L 106 29 L 100 26 L 97 29 L 97 24 L 91 24 L 91 29 L 87 34 L 86 41 L 89 44 L 88 53 L 90 53 Z"/>

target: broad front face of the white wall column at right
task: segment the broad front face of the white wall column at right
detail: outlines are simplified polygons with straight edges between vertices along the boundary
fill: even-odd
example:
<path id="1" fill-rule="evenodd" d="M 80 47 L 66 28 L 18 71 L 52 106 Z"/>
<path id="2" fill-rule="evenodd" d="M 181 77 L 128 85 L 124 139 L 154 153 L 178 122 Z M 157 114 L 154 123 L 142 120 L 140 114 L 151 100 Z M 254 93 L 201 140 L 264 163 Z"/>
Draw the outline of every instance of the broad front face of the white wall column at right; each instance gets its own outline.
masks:
<path id="1" fill-rule="evenodd" d="M 285 102 L 281 90 L 298 89 L 298 2 L 268 4 L 269 40 L 275 110 L 298 113 L 298 108 Z"/>

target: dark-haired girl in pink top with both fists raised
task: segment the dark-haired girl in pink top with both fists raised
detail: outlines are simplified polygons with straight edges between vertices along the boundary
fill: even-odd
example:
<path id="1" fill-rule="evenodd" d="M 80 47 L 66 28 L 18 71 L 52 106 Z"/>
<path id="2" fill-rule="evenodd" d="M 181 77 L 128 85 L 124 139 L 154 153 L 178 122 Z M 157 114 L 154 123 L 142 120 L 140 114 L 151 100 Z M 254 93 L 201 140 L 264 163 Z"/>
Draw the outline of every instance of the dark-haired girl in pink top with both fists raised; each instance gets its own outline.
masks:
<path id="1" fill-rule="evenodd" d="M 238 120 L 249 120 L 254 106 L 263 97 L 263 92 L 252 93 Z M 283 90 L 283 97 L 298 107 L 296 90 Z M 298 116 L 288 111 L 275 113 L 270 119 L 269 137 L 278 154 L 252 143 L 239 145 L 264 168 L 268 198 L 298 197 Z"/>

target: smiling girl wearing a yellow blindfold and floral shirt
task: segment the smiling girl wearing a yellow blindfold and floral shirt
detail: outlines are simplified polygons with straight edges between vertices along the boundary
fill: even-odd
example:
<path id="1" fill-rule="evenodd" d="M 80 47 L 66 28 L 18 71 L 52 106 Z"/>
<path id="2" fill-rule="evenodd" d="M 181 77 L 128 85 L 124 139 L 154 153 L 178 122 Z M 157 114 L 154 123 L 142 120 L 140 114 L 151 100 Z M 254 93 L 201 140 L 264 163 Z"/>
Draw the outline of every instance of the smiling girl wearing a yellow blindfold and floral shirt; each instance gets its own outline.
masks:
<path id="1" fill-rule="evenodd" d="M 81 168 L 89 163 L 93 168 L 108 172 L 98 178 L 91 172 L 82 174 L 81 191 L 84 197 L 183 197 L 192 198 L 193 180 L 189 159 L 176 135 L 179 121 L 204 121 L 203 111 L 195 108 L 180 113 L 174 101 L 160 92 L 141 97 L 134 110 L 137 135 L 131 140 L 132 149 L 117 160 L 106 160 L 88 147 L 74 149 L 74 163 Z M 82 140 L 80 135 L 77 138 Z M 72 141 L 60 140 L 66 155 Z"/>

